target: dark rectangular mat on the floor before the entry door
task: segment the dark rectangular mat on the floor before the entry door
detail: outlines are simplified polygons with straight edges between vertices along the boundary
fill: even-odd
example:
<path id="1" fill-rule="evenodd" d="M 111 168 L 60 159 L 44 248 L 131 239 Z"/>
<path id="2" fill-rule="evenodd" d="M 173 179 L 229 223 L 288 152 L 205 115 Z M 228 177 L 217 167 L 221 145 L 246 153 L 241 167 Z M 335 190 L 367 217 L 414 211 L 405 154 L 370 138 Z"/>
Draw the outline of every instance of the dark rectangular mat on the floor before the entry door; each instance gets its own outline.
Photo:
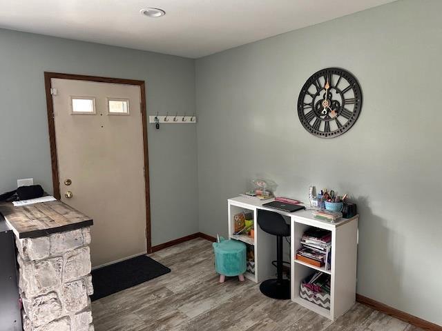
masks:
<path id="1" fill-rule="evenodd" d="M 95 301 L 107 297 L 169 272 L 169 268 L 146 255 L 107 265 L 91 272 L 94 294 L 90 299 Z"/>

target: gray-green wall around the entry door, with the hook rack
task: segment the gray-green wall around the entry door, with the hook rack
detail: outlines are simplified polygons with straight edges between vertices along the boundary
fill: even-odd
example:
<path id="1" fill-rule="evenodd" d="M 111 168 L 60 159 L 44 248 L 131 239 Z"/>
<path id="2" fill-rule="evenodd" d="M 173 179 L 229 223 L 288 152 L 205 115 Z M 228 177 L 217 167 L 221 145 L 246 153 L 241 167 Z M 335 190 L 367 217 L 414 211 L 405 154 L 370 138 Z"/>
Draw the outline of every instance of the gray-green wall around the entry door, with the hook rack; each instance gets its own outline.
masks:
<path id="1" fill-rule="evenodd" d="M 1 193 L 26 177 L 52 192 L 44 71 L 141 79 L 148 114 L 195 112 L 191 59 L 0 30 Z M 149 125 L 148 148 L 153 245 L 198 232 L 195 126 Z"/>

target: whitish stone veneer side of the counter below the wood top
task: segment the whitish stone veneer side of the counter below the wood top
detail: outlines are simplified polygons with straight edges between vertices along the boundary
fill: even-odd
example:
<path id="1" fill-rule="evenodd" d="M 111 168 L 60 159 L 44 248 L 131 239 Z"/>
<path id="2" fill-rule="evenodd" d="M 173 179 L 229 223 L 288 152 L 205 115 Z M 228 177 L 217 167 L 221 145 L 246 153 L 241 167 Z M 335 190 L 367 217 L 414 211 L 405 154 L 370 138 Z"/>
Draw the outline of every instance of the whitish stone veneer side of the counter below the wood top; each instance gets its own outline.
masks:
<path id="1" fill-rule="evenodd" d="M 90 228 L 16 239 L 25 331 L 93 331 Z"/>

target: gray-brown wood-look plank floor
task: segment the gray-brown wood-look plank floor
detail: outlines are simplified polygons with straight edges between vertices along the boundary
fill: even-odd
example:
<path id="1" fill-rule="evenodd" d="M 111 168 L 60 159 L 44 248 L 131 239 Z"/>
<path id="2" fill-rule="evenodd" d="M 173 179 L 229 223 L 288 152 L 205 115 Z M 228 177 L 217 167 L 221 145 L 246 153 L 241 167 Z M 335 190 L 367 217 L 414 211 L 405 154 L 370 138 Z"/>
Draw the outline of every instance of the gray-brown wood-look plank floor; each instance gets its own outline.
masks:
<path id="1" fill-rule="evenodd" d="M 193 239 L 149 255 L 172 272 L 93 302 L 96 331 L 422 331 L 356 303 L 332 322 L 265 297 L 238 278 L 218 283 L 211 242 Z"/>

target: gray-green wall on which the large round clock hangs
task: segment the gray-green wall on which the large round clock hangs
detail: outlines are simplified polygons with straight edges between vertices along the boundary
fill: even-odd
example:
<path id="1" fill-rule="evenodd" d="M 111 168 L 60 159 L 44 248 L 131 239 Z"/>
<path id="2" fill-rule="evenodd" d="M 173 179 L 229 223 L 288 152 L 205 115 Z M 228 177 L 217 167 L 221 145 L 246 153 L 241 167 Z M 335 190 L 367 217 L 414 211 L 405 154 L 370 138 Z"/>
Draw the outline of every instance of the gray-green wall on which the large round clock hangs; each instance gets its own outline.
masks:
<path id="1" fill-rule="evenodd" d="M 398 1 L 196 61 L 200 231 L 227 235 L 227 199 L 253 177 L 307 200 L 358 203 L 357 292 L 442 325 L 442 1 Z M 298 93 L 322 68 L 358 78 L 364 104 L 335 139 L 302 128 Z"/>

